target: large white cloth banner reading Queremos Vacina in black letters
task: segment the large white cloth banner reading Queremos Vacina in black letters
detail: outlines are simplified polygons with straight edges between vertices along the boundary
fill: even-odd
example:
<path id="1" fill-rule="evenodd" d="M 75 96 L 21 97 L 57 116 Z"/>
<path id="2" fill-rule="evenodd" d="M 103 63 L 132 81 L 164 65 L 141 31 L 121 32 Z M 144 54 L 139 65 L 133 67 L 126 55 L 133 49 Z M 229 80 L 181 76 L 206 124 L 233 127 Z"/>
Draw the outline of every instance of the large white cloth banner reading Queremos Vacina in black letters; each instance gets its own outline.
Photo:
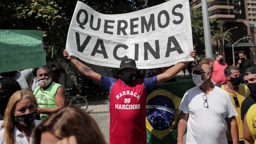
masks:
<path id="1" fill-rule="evenodd" d="M 139 69 L 192 61 L 188 0 L 126 14 L 101 14 L 78 1 L 68 30 L 66 50 L 84 62 L 119 68 L 132 58 Z"/>

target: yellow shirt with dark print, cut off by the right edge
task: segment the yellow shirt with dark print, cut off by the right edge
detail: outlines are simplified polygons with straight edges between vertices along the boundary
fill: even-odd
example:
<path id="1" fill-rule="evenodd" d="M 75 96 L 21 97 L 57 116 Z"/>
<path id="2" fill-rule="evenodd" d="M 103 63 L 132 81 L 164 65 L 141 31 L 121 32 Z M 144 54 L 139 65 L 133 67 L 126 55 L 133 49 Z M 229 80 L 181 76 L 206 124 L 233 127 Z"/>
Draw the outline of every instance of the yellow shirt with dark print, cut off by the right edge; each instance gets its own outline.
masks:
<path id="1" fill-rule="evenodd" d="M 248 109 L 246 113 L 246 122 L 254 140 L 254 144 L 256 144 L 256 104 Z"/>

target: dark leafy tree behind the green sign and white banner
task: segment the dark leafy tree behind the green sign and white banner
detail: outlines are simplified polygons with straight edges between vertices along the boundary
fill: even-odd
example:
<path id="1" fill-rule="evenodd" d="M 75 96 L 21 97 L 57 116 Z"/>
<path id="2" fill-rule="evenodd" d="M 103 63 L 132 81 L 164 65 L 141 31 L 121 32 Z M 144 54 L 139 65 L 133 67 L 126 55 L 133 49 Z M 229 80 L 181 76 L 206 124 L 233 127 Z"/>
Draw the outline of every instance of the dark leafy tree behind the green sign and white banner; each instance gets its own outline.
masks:
<path id="1" fill-rule="evenodd" d="M 94 10 L 104 14 L 132 12 L 130 1 L 84 0 Z M 5 0 L 0 1 L 0 29 L 42 30 L 48 44 L 46 58 L 62 57 L 68 28 L 77 0 Z"/>

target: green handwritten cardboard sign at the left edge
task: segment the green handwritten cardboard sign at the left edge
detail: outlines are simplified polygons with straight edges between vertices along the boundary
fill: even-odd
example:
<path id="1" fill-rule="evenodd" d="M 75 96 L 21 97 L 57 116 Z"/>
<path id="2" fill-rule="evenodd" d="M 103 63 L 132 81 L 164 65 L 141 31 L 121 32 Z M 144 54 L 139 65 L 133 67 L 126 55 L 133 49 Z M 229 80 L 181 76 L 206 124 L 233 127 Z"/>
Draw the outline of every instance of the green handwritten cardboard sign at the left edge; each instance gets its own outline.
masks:
<path id="1" fill-rule="evenodd" d="M 0 72 L 46 65 L 42 40 L 38 30 L 0 30 Z"/>

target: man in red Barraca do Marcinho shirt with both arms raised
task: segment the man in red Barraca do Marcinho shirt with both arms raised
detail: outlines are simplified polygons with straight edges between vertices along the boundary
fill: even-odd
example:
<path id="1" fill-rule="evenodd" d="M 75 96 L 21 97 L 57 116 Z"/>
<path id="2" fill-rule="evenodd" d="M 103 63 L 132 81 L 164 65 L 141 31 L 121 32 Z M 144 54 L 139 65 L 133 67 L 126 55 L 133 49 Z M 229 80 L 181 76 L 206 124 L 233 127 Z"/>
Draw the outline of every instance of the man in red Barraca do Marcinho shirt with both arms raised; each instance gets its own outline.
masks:
<path id="1" fill-rule="evenodd" d="M 195 57 L 196 51 L 190 56 Z M 170 80 L 188 62 L 180 62 L 164 73 L 151 78 L 137 79 L 138 68 L 134 60 L 122 60 L 118 74 L 120 79 L 101 76 L 64 50 L 64 58 L 70 60 L 84 76 L 108 90 L 110 96 L 110 144 L 146 143 L 146 96 L 159 84 Z"/>

